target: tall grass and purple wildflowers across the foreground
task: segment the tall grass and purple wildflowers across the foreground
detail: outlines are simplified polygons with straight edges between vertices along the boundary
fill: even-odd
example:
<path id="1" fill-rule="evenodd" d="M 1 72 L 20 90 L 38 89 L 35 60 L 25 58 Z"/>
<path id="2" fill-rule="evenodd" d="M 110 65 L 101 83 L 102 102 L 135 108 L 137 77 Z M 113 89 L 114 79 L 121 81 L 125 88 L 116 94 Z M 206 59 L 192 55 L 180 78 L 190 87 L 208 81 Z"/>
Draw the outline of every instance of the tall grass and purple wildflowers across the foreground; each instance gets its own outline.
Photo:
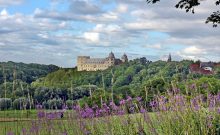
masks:
<path id="1" fill-rule="evenodd" d="M 128 96 L 119 104 L 64 104 L 62 110 L 37 105 L 36 118 L 1 122 L 1 129 L 8 135 L 214 135 L 220 133 L 220 93 L 186 96 L 173 89 L 148 103 Z"/>

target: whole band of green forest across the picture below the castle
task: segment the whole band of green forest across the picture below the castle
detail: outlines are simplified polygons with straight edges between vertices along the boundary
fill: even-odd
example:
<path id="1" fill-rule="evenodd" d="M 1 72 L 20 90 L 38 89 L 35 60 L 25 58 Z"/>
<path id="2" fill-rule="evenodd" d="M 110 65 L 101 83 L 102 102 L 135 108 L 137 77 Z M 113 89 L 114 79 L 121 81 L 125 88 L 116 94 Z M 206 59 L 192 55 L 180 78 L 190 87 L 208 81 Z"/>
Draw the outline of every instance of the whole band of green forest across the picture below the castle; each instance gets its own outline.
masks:
<path id="1" fill-rule="evenodd" d="M 189 95 L 194 91 L 217 93 L 220 89 L 219 67 L 214 75 L 192 74 L 189 73 L 192 63 L 189 60 L 151 62 L 143 57 L 96 72 L 78 72 L 76 68 L 57 70 L 58 67 L 52 65 L 23 65 L 17 66 L 16 79 L 13 78 L 14 68 L 4 71 L 8 73 L 8 82 L 1 85 L 0 92 L 4 97 L 6 88 L 6 97 L 12 102 L 43 104 L 45 108 L 62 108 L 63 102 L 69 107 L 74 102 L 99 105 L 114 100 L 117 103 L 127 96 L 140 96 L 149 101 L 154 95 L 167 91 Z M 5 69 L 9 68 L 5 66 Z M 1 83 L 5 84 L 4 79 Z"/>

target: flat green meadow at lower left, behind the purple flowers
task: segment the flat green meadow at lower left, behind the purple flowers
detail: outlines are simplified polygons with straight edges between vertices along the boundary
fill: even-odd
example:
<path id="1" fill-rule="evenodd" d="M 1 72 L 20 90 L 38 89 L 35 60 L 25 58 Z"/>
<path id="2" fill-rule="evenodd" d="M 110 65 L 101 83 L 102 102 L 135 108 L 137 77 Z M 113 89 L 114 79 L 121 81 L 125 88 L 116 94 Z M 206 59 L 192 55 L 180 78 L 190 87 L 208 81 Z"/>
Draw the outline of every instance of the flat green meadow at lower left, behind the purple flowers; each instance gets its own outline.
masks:
<path id="1" fill-rule="evenodd" d="M 48 112 L 50 110 L 47 110 Z M 78 123 L 74 116 L 72 116 L 73 111 L 67 111 L 64 114 L 64 118 L 62 119 L 53 119 L 53 120 L 40 120 L 37 118 L 36 110 L 29 111 L 0 111 L 0 135 L 8 135 L 10 131 L 13 132 L 13 135 L 20 135 L 22 131 L 28 130 L 29 132 L 37 132 L 36 129 L 33 128 L 33 125 L 41 125 L 41 130 L 39 130 L 39 135 L 65 135 L 65 132 L 68 132 L 68 135 L 80 135 L 82 134 L 81 127 L 79 127 Z M 135 118 L 140 117 L 138 115 L 130 115 L 131 119 L 135 120 Z M 93 125 L 93 129 L 91 131 L 99 131 L 99 133 L 105 133 L 106 130 L 110 130 L 114 126 L 115 134 L 116 131 L 120 133 L 121 120 L 126 119 L 126 116 L 118 117 L 105 117 L 98 119 L 86 119 L 81 120 L 80 123 L 86 123 L 86 125 Z M 110 120 L 111 119 L 111 120 Z M 106 123 L 108 121 L 108 123 Z M 111 122 L 110 122 L 111 121 Z M 40 124 L 39 124 L 40 123 Z M 89 124 L 88 124 L 89 123 Z M 112 123 L 115 123 L 112 125 Z M 109 127 L 109 125 L 111 125 Z M 90 127 L 84 127 L 90 128 Z M 31 131 L 33 130 L 33 131 Z M 133 129 L 123 129 L 123 130 L 133 130 Z M 10 134 L 11 135 L 11 134 Z"/>

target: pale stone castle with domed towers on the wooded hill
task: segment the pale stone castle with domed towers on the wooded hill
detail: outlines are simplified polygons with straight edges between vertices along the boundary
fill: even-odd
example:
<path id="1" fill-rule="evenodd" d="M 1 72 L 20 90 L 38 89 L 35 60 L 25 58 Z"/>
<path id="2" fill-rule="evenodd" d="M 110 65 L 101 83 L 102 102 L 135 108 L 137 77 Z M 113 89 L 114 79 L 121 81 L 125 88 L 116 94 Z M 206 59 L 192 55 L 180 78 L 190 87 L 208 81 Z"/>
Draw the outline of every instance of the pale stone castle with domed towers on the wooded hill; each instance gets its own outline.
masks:
<path id="1" fill-rule="evenodd" d="M 105 70 L 111 66 L 128 62 L 128 57 L 124 54 L 121 59 L 115 58 L 113 52 L 107 58 L 90 58 L 90 56 L 77 57 L 77 71 L 98 71 Z"/>

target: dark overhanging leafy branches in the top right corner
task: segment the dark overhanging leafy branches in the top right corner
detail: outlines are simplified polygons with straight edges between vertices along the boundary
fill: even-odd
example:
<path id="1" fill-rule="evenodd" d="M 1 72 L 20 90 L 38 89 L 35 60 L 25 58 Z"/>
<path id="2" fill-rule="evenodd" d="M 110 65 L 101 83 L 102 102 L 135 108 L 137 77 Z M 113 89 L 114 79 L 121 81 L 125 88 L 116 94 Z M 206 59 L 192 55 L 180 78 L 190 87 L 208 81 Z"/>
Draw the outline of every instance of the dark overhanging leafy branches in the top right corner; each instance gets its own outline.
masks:
<path id="1" fill-rule="evenodd" d="M 180 0 L 175 7 L 185 9 L 186 12 L 195 13 L 194 7 L 199 6 L 201 2 L 205 0 Z M 147 3 L 157 3 L 160 0 L 147 0 Z M 215 0 L 215 5 L 220 5 L 220 0 Z M 206 23 L 213 23 L 213 27 L 217 27 L 220 24 L 220 11 L 213 12 L 207 19 Z"/>

